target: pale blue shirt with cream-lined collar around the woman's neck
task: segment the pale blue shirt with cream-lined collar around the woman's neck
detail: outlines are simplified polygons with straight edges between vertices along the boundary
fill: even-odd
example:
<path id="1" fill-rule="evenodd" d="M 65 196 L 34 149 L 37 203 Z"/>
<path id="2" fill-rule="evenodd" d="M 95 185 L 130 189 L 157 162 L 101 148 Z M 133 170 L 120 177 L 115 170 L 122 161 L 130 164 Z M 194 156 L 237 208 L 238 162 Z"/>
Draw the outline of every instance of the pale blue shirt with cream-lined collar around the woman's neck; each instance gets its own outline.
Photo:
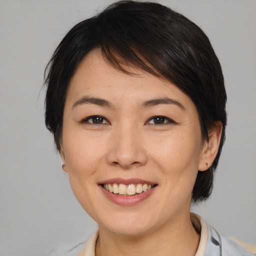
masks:
<path id="1" fill-rule="evenodd" d="M 220 235 L 207 225 L 197 214 L 191 213 L 191 222 L 200 233 L 200 241 L 195 256 L 254 256 L 232 239 Z M 95 256 L 98 230 L 95 231 L 80 250 L 78 256 Z"/>

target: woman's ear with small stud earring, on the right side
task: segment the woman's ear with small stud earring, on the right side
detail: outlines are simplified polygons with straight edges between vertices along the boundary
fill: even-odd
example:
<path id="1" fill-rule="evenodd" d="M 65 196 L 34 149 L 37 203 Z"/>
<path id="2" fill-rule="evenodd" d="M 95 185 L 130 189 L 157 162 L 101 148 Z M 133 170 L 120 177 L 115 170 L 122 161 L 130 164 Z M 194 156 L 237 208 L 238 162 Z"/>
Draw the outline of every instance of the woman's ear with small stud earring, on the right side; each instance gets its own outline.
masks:
<path id="1" fill-rule="evenodd" d="M 221 132 L 222 132 L 222 123 L 221 121 L 216 121 L 213 129 L 210 130 L 210 132 L 208 132 L 208 138 L 209 138 L 208 141 L 204 141 L 204 144 L 200 153 L 198 170 L 204 171 L 211 166 L 218 152 Z"/>

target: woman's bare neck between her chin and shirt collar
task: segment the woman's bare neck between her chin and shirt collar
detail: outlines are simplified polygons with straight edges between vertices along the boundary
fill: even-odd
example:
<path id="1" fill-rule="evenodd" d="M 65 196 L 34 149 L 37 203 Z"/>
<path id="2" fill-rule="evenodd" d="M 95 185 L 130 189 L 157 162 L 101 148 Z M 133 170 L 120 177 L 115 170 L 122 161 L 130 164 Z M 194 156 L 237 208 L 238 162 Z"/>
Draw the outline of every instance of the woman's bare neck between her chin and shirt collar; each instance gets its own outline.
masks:
<path id="1" fill-rule="evenodd" d="M 114 234 L 99 226 L 95 256 L 194 256 L 200 235 L 190 221 L 190 215 L 177 216 L 170 223 L 136 236 Z"/>

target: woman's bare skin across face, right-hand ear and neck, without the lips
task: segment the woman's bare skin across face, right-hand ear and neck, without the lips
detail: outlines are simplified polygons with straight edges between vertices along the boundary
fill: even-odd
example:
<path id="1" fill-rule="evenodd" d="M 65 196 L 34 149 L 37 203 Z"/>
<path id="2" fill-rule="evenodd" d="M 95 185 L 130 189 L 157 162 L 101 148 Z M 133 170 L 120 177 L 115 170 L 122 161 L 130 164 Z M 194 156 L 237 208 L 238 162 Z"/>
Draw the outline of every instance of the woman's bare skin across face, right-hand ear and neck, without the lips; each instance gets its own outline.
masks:
<path id="1" fill-rule="evenodd" d="M 199 234 L 189 217 L 191 192 L 197 171 L 214 160 L 221 123 L 209 141 L 202 141 L 197 110 L 186 94 L 168 81 L 127 69 L 137 75 L 117 71 L 99 50 L 78 65 L 64 106 L 63 170 L 77 200 L 98 223 L 96 256 L 194 255 Z M 82 97 L 109 105 L 84 103 Z M 143 106 L 163 97 L 178 103 Z M 102 123 L 92 123 L 92 115 L 103 116 Z M 153 116 L 166 118 L 155 124 Z M 123 206 L 99 188 L 110 178 L 140 178 L 157 186 L 145 200 Z"/>

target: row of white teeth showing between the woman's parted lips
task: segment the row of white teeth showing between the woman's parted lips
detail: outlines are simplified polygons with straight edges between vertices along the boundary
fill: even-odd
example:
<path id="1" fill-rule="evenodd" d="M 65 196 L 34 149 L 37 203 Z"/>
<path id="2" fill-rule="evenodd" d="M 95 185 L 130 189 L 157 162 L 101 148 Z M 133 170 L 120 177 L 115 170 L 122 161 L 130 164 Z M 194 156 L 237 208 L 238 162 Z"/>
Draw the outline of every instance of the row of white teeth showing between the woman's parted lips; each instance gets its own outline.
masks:
<path id="1" fill-rule="evenodd" d="M 107 191 L 118 194 L 118 195 L 123 195 L 123 196 L 128 196 L 128 195 L 135 195 L 135 194 L 140 194 L 143 193 L 147 190 L 152 189 L 154 186 L 157 184 L 117 184 L 117 183 L 107 183 L 107 184 L 101 184 L 104 189 Z"/>

